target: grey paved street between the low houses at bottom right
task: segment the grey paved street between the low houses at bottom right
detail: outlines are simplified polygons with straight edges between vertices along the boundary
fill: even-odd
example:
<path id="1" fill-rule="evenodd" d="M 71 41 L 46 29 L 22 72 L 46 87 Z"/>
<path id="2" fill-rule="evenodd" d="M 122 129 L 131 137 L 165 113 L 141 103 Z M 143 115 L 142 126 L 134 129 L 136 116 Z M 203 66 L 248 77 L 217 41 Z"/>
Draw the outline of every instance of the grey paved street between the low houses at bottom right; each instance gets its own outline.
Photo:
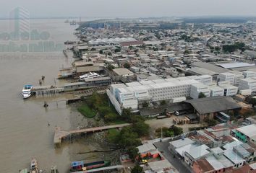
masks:
<path id="1" fill-rule="evenodd" d="M 156 148 L 158 148 L 158 151 L 161 151 L 163 156 L 166 157 L 166 159 L 174 166 L 177 171 L 180 173 L 192 173 L 192 170 L 189 169 L 189 167 L 184 162 L 180 161 L 177 156 L 174 158 L 174 154 L 171 154 L 171 152 L 168 150 L 169 142 L 170 141 L 157 142 L 154 143 L 154 145 Z"/>

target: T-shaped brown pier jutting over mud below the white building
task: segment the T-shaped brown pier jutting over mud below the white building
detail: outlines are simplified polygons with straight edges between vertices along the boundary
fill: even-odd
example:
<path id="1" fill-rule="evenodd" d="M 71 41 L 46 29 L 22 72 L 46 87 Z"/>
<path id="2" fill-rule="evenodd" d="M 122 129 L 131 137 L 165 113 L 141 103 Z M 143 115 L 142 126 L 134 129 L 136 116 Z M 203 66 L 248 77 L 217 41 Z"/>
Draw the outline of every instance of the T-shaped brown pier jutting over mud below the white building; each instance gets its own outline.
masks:
<path id="1" fill-rule="evenodd" d="M 67 136 L 72 136 L 74 134 L 94 133 L 94 132 L 99 132 L 99 131 L 108 130 L 112 128 L 124 128 L 129 125 L 131 124 L 125 123 L 125 124 L 119 124 L 119 125 L 107 125 L 107 126 L 96 127 L 96 128 L 85 128 L 80 130 L 61 130 L 60 127 L 56 127 L 55 134 L 54 134 L 54 144 L 60 145 L 62 139 L 66 138 Z"/>

